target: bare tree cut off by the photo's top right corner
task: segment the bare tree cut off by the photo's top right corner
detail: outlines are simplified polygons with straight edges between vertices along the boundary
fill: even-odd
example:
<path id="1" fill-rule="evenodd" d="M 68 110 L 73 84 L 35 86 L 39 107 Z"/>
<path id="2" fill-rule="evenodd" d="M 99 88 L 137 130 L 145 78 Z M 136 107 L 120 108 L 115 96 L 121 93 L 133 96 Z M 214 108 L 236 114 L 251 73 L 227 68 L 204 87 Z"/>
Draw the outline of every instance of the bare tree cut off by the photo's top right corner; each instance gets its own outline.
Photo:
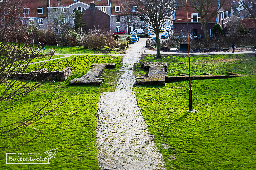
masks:
<path id="1" fill-rule="evenodd" d="M 256 0 L 241 0 L 240 4 L 248 11 L 250 18 L 254 20 L 256 29 Z M 256 35 L 254 35 L 254 48 L 256 49 Z"/>

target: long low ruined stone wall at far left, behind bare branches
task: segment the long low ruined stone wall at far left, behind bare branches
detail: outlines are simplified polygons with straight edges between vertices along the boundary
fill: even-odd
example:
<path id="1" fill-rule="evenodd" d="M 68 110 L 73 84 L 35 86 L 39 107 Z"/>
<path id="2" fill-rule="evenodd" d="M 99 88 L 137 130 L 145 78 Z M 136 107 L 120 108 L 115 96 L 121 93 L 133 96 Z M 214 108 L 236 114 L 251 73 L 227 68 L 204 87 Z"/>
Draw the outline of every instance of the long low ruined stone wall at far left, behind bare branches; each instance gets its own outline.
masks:
<path id="1" fill-rule="evenodd" d="M 8 77 L 12 79 L 24 80 L 60 80 L 65 81 L 71 75 L 71 67 L 66 67 L 61 71 L 48 71 L 47 68 L 32 71 L 30 73 L 10 74 Z"/>

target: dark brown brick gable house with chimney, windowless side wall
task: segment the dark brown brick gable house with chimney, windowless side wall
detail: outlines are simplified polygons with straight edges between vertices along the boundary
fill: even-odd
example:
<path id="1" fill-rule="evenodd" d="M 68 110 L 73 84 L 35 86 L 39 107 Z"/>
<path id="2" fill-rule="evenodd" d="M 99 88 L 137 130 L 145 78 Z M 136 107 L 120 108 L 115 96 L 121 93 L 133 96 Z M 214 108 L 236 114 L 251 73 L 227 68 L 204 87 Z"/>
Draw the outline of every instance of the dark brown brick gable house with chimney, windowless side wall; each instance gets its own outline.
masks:
<path id="1" fill-rule="evenodd" d="M 101 27 L 110 31 L 111 16 L 95 7 L 94 2 L 90 3 L 90 7 L 82 12 L 83 22 L 86 22 L 86 28 Z"/>

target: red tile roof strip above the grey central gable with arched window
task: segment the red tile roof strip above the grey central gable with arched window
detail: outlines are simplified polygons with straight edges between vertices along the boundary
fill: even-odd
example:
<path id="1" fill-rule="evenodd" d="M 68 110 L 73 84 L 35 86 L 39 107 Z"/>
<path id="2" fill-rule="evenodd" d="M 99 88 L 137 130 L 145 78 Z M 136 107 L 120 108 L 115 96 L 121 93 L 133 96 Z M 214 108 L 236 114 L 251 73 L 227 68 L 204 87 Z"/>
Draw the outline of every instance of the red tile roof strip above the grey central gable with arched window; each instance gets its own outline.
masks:
<path id="1" fill-rule="evenodd" d="M 90 3 L 92 1 L 94 1 L 95 6 L 108 6 L 108 0 L 79 0 L 80 2 L 83 2 L 85 4 L 90 5 Z M 69 6 L 73 3 L 76 3 L 78 1 L 74 1 L 74 0 L 50 0 L 50 6 L 59 6 L 59 3 L 61 3 L 63 6 Z"/>

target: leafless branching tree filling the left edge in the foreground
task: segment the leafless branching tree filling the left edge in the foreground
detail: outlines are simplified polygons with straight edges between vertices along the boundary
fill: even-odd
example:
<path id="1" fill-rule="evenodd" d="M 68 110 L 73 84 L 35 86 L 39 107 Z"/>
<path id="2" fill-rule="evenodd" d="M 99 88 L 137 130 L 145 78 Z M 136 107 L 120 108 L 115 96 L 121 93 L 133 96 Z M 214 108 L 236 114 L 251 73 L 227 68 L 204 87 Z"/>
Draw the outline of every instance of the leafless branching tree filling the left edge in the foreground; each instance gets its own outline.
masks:
<path id="1" fill-rule="evenodd" d="M 27 33 L 27 20 L 24 18 L 23 13 L 23 7 L 19 0 L 1 2 L 0 111 L 2 112 L 2 119 L 0 121 L 0 150 L 3 151 L 24 148 L 27 146 L 24 144 L 41 136 L 44 131 L 42 129 L 32 129 L 30 125 L 49 115 L 61 104 L 57 100 L 60 95 L 56 94 L 55 89 L 54 92 L 47 94 L 42 106 L 31 110 L 29 115 L 20 114 L 19 120 L 14 121 L 12 119 L 12 116 L 15 117 L 17 115 L 13 115 L 10 109 L 34 100 L 35 98 L 28 99 L 27 95 L 35 91 L 47 80 L 37 80 L 36 77 L 39 72 L 35 72 L 35 75 L 29 79 L 18 79 L 18 74 L 26 73 L 28 70 L 40 70 L 49 61 L 38 65 L 36 69 L 29 68 L 32 60 L 39 55 L 39 52 L 33 45 L 35 30 L 30 30 L 30 33 Z M 38 97 L 42 97 L 45 94 L 41 94 Z M 55 103 L 54 105 L 53 102 Z M 4 115 L 3 112 L 5 112 Z M 18 145 L 9 143 L 13 138 L 26 135 L 28 132 L 33 132 L 33 136 L 23 138 L 24 141 L 20 141 Z"/>

